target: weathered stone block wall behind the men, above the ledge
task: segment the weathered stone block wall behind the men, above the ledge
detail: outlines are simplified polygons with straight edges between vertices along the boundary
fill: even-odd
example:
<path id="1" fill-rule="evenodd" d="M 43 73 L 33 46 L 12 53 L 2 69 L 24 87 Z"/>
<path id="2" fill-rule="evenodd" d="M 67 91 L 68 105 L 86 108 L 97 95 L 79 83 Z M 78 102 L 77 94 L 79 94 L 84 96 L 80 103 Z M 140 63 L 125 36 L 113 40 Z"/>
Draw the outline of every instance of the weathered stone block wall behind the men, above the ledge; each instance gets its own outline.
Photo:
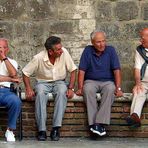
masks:
<path id="1" fill-rule="evenodd" d="M 98 28 L 117 49 L 125 92 L 134 84 L 134 51 L 143 27 L 148 27 L 148 0 L 0 0 L 0 37 L 10 40 L 10 56 L 21 67 L 50 35 L 62 38 L 78 64 L 90 32 Z"/>

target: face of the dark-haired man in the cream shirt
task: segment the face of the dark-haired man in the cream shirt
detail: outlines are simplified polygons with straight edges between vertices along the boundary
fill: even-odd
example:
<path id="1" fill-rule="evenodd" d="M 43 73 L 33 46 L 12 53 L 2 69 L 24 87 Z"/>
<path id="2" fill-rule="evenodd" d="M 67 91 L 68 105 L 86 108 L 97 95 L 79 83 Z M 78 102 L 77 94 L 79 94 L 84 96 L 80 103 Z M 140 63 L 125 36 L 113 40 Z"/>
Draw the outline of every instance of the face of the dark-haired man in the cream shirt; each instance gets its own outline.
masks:
<path id="1" fill-rule="evenodd" d="M 62 53 L 62 44 L 56 44 L 52 47 L 52 55 L 54 57 L 60 57 Z"/>

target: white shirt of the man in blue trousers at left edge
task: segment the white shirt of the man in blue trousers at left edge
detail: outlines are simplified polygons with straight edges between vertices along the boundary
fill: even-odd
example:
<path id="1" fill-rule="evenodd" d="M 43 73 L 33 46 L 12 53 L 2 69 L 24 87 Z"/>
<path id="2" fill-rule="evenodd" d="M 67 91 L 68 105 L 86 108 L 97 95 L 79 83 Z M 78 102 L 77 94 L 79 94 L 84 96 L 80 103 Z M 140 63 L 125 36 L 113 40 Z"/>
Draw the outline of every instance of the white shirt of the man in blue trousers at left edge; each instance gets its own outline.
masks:
<path id="1" fill-rule="evenodd" d="M 8 60 L 10 61 L 10 63 L 14 66 L 14 68 L 17 70 L 18 68 L 18 64 L 15 60 L 8 58 Z M 4 61 L 0 61 L 0 75 L 2 76 L 9 76 L 7 67 L 5 65 Z M 0 85 L 6 86 L 6 87 L 10 87 L 10 84 L 12 82 L 0 82 Z"/>

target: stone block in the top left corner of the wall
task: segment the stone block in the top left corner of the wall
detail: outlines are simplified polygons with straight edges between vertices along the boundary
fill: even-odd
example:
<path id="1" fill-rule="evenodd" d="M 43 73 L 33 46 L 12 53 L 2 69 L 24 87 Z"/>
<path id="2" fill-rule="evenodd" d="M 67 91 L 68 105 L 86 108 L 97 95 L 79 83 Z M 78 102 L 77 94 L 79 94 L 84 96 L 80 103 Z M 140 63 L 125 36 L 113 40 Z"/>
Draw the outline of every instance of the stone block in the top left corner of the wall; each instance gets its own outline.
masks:
<path id="1" fill-rule="evenodd" d="M 3 0 L 0 2 L 0 19 L 17 19 L 25 13 L 25 0 Z"/>

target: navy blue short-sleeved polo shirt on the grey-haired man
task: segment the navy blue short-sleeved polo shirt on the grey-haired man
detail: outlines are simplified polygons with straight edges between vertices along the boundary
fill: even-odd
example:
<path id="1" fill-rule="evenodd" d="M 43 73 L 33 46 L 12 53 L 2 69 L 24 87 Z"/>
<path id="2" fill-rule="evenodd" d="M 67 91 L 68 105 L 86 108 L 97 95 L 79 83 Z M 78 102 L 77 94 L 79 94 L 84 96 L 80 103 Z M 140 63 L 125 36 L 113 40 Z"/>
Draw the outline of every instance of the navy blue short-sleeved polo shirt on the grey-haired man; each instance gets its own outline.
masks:
<path id="1" fill-rule="evenodd" d="M 120 69 L 117 53 L 112 46 L 106 46 L 101 55 L 97 55 L 94 46 L 84 49 L 79 69 L 85 71 L 85 80 L 114 81 L 113 70 Z"/>

